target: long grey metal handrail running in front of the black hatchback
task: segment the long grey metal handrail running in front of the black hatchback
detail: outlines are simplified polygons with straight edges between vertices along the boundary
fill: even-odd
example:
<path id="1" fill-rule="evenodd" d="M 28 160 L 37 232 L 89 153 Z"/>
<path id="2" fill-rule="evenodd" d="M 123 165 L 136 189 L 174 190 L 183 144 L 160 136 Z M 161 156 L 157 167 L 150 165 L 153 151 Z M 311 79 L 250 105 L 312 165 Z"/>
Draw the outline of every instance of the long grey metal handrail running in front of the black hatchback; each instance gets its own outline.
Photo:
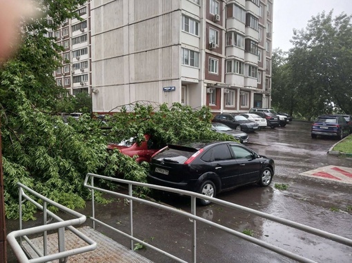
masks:
<path id="1" fill-rule="evenodd" d="M 88 183 L 89 178 L 90 178 L 90 184 Z M 113 181 L 113 182 L 119 182 L 121 184 L 126 184 L 126 185 L 128 185 L 128 195 L 126 195 L 124 193 L 117 193 L 115 191 L 110 191 L 110 190 L 107 190 L 107 189 L 102 189 L 100 187 L 95 187 L 94 186 L 94 178 L 110 180 L 110 181 Z M 157 202 L 151 202 L 149 200 L 144 200 L 144 199 L 141 199 L 141 198 L 137 198 L 137 197 L 133 196 L 133 186 L 148 187 L 148 188 L 151 188 L 151 189 L 157 189 L 157 190 L 161 190 L 161 191 L 168 191 L 168 192 L 172 192 L 172 193 L 182 194 L 184 196 L 190 196 L 190 198 L 191 198 L 191 212 L 188 213 L 186 211 L 180 211 L 180 210 L 175 209 L 173 207 L 168 207 L 168 206 L 166 206 L 164 204 L 160 204 L 160 203 L 157 203 Z M 175 255 L 172 255 L 170 253 L 167 253 L 166 251 L 161 251 L 157 247 L 152 246 L 152 245 L 144 242 L 143 240 L 139 240 L 139 239 L 137 239 L 137 238 L 135 238 L 133 236 L 133 201 L 137 201 L 137 202 L 141 202 L 141 203 L 144 203 L 144 204 L 148 204 L 148 205 L 153 206 L 153 207 L 158 207 L 160 209 L 164 209 L 166 211 L 171 211 L 171 212 L 177 213 L 179 215 L 184 215 L 186 218 L 193 219 L 192 248 L 191 248 L 192 255 L 193 255 L 193 262 L 197 261 L 197 244 L 196 244 L 196 238 L 197 238 L 197 236 L 196 236 L 197 235 L 196 222 L 197 221 L 204 222 L 205 224 L 208 224 L 208 225 L 210 225 L 212 227 L 215 227 L 217 229 L 221 229 L 223 231 L 226 231 L 227 233 L 231 233 L 232 235 L 235 235 L 238 238 L 242 238 L 243 240 L 246 240 L 246 241 L 251 242 L 253 244 L 257 244 L 258 246 L 262 246 L 265 249 L 271 250 L 271 251 L 273 251 L 275 253 L 278 253 L 280 255 L 284 255 L 285 257 L 289 257 L 289 258 L 291 258 L 293 260 L 296 260 L 297 262 L 309 262 L 309 263 L 315 262 L 315 261 L 310 260 L 310 259 L 308 259 L 306 257 L 302 257 L 302 256 L 297 255 L 295 253 L 292 253 L 290 251 L 286 251 L 285 249 L 281 249 L 278 246 L 274 246 L 272 244 L 268 244 L 267 242 L 264 242 L 262 240 L 258 240 L 257 238 L 253 238 L 253 237 L 251 237 L 249 235 L 246 235 L 244 233 L 241 233 L 239 231 L 235 231 L 235 230 L 230 229 L 228 227 L 224 227 L 221 224 L 217 224 L 215 222 L 212 222 L 210 220 L 206 220 L 204 218 L 201 218 L 201 217 L 197 216 L 195 214 L 195 211 L 196 211 L 196 199 L 197 198 L 204 199 L 204 195 L 202 195 L 200 193 L 195 193 L 195 192 L 192 192 L 192 191 L 184 191 L 184 190 L 181 190 L 181 189 L 175 189 L 175 188 L 170 188 L 170 187 L 162 187 L 162 186 L 159 186 L 159 185 L 150 185 L 150 184 L 146 184 L 146 183 L 142 183 L 142 182 L 134 182 L 134 181 L 130 181 L 130 180 L 111 178 L 111 177 L 107 177 L 107 176 L 101 176 L 101 175 L 98 175 L 98 174 L 95 174 L 95 173 L 87 173 L 86 179 L 84 180 L 84 187 L 88 187 L 88 189 L 91 189 L 91 191 L 92 191 L 92 217 L 90 219 L 93 220 L 93 228 L 95 228 L 95 223 L 94 222 L 99 222 L 101 224 L 104 224 L 104 226 L 109 227 L 111 230 L 113 230 L 113 231 L 115 231 L 117 233 L 120 233 L 120 234 L 122 234 L 122 235 L 124 235 L 124 236 L 126 236 L 128 238 L 130 238 L 130 240 L 131 240 L 131 249 L 133 249 L 133 241 L 135 241 L 135 242 L 139 242 L 140 244 L 143 244 L 144 246 L 148 246 L 151 249 L 155 249 L 156 251 L 159 251 L 159 252 L 163 253 L 164 255 L 167 255 L 168 257 L 172 258 L 173 260 L 176 260 L 178 262 L 184 262 L 184 260 L 180 259 L 179 257 L 176 257 Z M 94 191 L 95 190 L 96 191 L 101 191 L 103 193 L 108 193 L 110 195 L 117 196 L 119 198 L 126 198 L 127 200 L 130 201 L 130 234 L 124 233 L 123 231 L 119 231 L 118 229 L 115 229 L 114 227 L 110 227 L 108 224 L 105 224 L 104 222 L 102 222 L 102 221 L 98 220 L 97 218 L 95 218 L 95 204 L 94 204 Z M 227 201 L 224 201 L 224 200 L 219 200 L 217 198 L 211 198 L 211 197 L 207 196 L 206 199 L 210 200 L 213 203 L 224 205 L 225 207 L 230 207 L 232 209 L 237 209 L 237 210 L 240 210 L 240 211 L 246 211 L 248 213 L 252 213 L 253 215 L 257 215 L 257 216 L 260 216 L 262 218 L 266 218 L 268 220 L 271 220 L 273 222 L 284 224 L 284 225 L 286 225 L 288 227 L 293 227 L 295 229 L 299 229 L 301 231 L 304 231 L 304 232 L 307 232 L 307 233 L 311 233 L 313 235 L 317 235 L 317 236 L 320 236 L 322 238 L 326 238 L 328 240 L 333 240 L 333 241 L 338 242 L 340 244 L 345 244 L 346 246 L 352 246 L 352 240 L 351 239 L 344 238 L 344 237 L 342 237 L 340 235 L 335 235 L 333 233 L 322 231 L 320 229 L 315 229 L 313 227 L 309 227 L 309 226 L 306 226 L 304 224 L 293 222 L 291 220 L 286 220 L 284 218 L 279 218 L 279 217 L 277 217 L 275 215 L 271 215 L 271 214 L 268 214 L 268 213 L 260 212 L 260 211 L 257 211 L 255 209 L 250 209 L 248 207 L 243 207 L 243 206 L 241 206 L 239 204 L 233 204 L 231 202 L 227 202 Z"/>

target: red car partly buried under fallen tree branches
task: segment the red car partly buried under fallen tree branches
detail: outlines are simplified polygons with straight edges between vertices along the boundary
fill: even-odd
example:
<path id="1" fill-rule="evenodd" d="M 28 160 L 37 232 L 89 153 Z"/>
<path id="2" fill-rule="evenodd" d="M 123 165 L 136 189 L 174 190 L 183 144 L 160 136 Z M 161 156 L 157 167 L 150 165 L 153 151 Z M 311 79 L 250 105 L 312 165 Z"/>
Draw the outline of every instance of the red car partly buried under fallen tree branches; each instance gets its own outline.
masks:
<path id="1" fill-rule="evenodd" d="M 129 140 L 123 140 L 121 143 L 110 143 L 108 144 L 108 150 L 119 149 L 122 154 L 133 157 L 138 156 L 137 162 L 150 162 L 150 158 L 162 147 L 153 141 L 152 136 L 149 134 L 144 135 L 146 140 L 141 142 L 140 145 L 136 143 L 136 138 L 130 138 Z"/>

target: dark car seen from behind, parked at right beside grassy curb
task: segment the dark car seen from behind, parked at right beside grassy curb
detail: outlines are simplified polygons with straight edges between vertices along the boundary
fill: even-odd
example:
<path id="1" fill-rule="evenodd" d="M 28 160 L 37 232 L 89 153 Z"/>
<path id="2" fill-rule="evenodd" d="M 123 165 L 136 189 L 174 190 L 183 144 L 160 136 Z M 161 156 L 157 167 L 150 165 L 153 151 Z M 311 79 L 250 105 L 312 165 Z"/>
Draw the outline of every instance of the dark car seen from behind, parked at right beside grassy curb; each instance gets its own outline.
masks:
<path id="1" fill-rule="evenodd" d="M 349 135 L 350 127 L 341 115 L 322 115 L 317 117 L 311 127 L 312 138 L 322 136 L 335 136 L 339 139 Z"/>

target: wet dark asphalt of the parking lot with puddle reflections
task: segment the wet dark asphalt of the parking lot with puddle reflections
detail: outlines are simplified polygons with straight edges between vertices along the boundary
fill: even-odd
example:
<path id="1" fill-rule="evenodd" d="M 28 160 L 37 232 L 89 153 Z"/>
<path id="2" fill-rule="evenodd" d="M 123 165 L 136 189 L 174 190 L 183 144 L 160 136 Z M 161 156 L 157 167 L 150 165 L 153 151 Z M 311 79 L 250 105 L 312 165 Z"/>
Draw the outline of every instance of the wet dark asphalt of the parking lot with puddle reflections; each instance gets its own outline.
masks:
<path id="1" fill-rule="evenodd" d="M 269 187 L 239 187 L 220 193 L 217 198 L 352 239 L 351 185 L 300 175 L 304 171 L 326 165 L 352 167 L 352 158 L 327 154 L 338 140 L 312 139 L 310 127 L 311 123 L 293 121 L 286 127 L 266 128 L 249 134 L 250 143 L 247 146 L 258 154 L 275 160 L 273 182 Z M 275 184 L 284 184 L 288 188 L 279 190 Z M 177 209 L 190 211 L 188 198 L 168 195 L 153 197 Z M 89 215 L 89 209 L 88 202 L 87 209 L 82 209 L 81 212 Z M 193 225 L 188 218 L 138 203 L 134 204 L 134 211 L 134 233 L 137 238 L 191 262 L 190 233 Z M 124 200 L 101 204 L 96 213 L 104 222 L 128 232 L 129 206 Z M 249 229 L 254 238 L 316 262 L 352 262 L 351 246 L 319 238 L 243 211 L 211 204 L 197 207 L 197 215 L 240 232 Z M 18 222 L 12 220 L 7 223 L 8 232 L 18 226 Z M 97 225 L 97 229 L 125 246 L 130 244 L 126 238 L 110 235 L 110 231 L 104 227 Z M 8 262 L 16 262 L 12 251 L 8 250 Z M 151 249 L 140 249 L 138 253 L 154 262 L 175 262 Z M 295 261 L 197 222 L 197 262 Z"/>

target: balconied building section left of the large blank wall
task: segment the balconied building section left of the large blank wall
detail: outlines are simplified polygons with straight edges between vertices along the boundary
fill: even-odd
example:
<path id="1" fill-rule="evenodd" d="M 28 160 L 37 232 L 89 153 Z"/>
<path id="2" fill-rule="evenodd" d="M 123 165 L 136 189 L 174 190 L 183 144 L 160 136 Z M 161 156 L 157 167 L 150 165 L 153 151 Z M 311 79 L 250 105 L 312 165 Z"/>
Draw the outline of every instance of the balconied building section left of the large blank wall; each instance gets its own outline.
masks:
<path id="1" fill-rule="evenodd" d="M 57 85 L 65 87 L 69 94 L 90 93 L 91 76 L 91 44 L 90 44 L 90 1 L 80 6 L 78 19 L 67 19 L 55 32 L 55 42 L 63 46 L 61 52 L 62 67 L 55 72 Z"/>

